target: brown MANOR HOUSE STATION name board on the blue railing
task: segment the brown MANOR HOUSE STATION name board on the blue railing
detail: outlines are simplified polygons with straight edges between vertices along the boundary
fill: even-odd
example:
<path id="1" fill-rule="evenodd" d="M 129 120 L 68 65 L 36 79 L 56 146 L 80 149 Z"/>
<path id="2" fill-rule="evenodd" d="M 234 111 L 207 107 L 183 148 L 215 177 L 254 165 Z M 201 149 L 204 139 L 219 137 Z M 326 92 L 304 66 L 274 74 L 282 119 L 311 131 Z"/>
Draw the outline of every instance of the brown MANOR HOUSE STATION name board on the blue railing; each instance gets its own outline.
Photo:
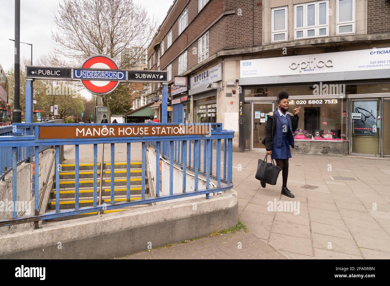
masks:
<path id="1" fill-rule="evenodd" d="M 209 124 L 194 125 L 101 125 L 101 126 L 39 126 L 39 140 L 45 139 L 83 139 L 206 135 L 211 133 Z"/>

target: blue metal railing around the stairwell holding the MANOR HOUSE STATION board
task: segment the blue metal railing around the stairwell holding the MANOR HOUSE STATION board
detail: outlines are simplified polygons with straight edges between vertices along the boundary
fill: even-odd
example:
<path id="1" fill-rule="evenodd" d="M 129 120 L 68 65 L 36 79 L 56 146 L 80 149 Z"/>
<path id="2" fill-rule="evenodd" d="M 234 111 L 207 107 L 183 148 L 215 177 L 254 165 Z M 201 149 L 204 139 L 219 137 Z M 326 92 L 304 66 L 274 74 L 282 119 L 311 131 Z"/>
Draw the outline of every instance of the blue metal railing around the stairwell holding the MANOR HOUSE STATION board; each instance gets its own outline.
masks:
<path id="1" fill-rule="evenodd" d="M 12 162 L 12 200 L 16 202 L 18 198 L 17 193 L 17 180 L 16 180 L 16 171 L 17 171 L 17 161 L 18 161 L 18 148 L 27 148 L 33 149 L 35 154 L 35 169 L 38 170 L 39 165 L 39 153 L 41 146 L 55 146 L 56 149 L 56 158 L 55 165 L 55 189 L 58 190 L 55 192 L 55 212 L 46 212 L 44 214 L 39 214 L 39 176 L 35 176 L 35 190 L 32 190 L 35 194 L 35 215 L 30 216 L 17 216 L 17 212 L 12 212 L 12 218 L 5 219 L 0 221 L 0 226 L 14 225 L 18 223 L 30 223 L 37 222 L 44 219 L 54 219 L 61 218 L 66 216 L 73 216 L 76 214 L 86 214 L 90 212 L 97 212 L 102 210 L 112 210 L 119 209 L 123 207 L 131 207 L 135 205 L 144 205 L 154 202 L 161 202 L 166 200 L 172 200 L 182 197 L 191 197 L 196 195 L 206 195 L 206 198 L 209 198 L 210 193 L 216 193 L 220 191 L 226 191 L 232 189 L 232 139 L 234 137 L 234 132 L 231 130 L 222 130 L 222 124 L 214 124 L 214 128 L 211 131 L 211 135 L 174 135 L 174 136 L 160 136 L 160 137 L 105 137 L 105 138 L 91 138 L 91 139 L 39 139 L 39 128 L 41 126 L 83 126 L 85 124 L 71 123 L 71 124 L 47 124 L 47 123 L 30 123 L 30 124 L 15 124 L 18 129 L 29 129 L 29 132 L 25 132 L 23 135 L 6 135 L 0 137 L 0 148 L 10 148 L 12 153 L 10 160 Z M 118 126 L 118 124 L 89 124 L 89 127 L 93 126 Z M 121 126 L 132 126 L 138 124 L 121 124 Z M 158 125 L 177 125 L 177 123 L 165 123 Z M 195 125 L 197 125 L 195 123 Z M 199 124 L 198 124 L 199 125 Z M 27 135 L 28 134 L 28 135 Z M 137 200 L 130 200 L 131 198 L 131 188 L 130 188 L 130 169 L 131 169 L 131 144 L 141 142 L 142 144 L 142 187 L 141 187 L 141 197 Z M 145 197 L 145 154 L 146 154 L 146 144 L 156 142 L 156 174 L 153 185 L 156 189 L 155 197 Z M 221 171 L 221 144 L 223 142 L 223 172 Z M 110 204 L 98 204 L 100 203 L 97 199 L 97 144 L 111 144 L 111 195 L 110 195 Z M 116 143 L 126 143 L 127 144 L 127 183 L 126 183 L 126 201 L 117 202 L 115 201 L 115 192 L 114 192 L 114 156 L 115 156 L 115 144 Z M 74 145 L 75 146 L 75 173 L 79 170 L 79 146 L 82 144 L 93 144 L 93 154 L 94 154 L 94 179 L 93 179 L 93 205 L 89 207 L 79 207 L 79 178 L 75 176 L 75 208 L 74 209 L 64 209 L 60 210 L 60 146 L 61 145 Z M 176 147 L 175 147 L 176 144 Z M 213 173 L 213 144 L 216 146 L 216 161 L 215 161 L 215 174 Z M 188 146 L 188 147 L 187 147 Z M 203 152 L 201 147 L 203 146 Z M 181 151 L 179 151 L 181 150 Z M 203 171 L 201 167 L 201 159 L 203 154 Z M 176 155 L 176 159 L 174 156 Z M 160 181 L 160 156 L 167 159 L 170 163 L 170 172 L 169 176 L 161 177 Z M 183 187 L 180 193 L 174 193 L 174 181 L 173 181 L 173 167 L 181 168 L 183 172 Z M 186 177 L 187 174 L 191 172 L 191 176 L 195 178 L 194 191 L 188 191 L 186 189 Z M 206 188 L 198 188 L 198 179 L 200 176 L 206 178 Z M 211 184 L 210 180 L 214 179 L 215 184 Z M 169 180 L 169 195 L 162 195 L 160 193 L 160 187 L 166 180 Z M 221 183 L 223 186 L 221 186 Z M 176 186 L 177 188 L 177 186 Z M 161 189 L 164 191 L 163 189 Z M 167 190 L 165 190 L 167 191 Z"/>

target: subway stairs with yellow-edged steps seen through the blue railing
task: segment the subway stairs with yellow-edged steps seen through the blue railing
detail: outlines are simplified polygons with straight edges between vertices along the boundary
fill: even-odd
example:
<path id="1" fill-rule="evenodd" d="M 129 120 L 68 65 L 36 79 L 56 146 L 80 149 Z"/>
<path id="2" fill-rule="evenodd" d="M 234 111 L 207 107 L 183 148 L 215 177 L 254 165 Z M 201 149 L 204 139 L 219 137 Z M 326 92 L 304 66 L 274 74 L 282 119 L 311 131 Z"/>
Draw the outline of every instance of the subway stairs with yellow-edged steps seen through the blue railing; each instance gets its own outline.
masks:
<path id="1" fill-rule="evenodd" d="M 93 205 L 94 196 L 94 172 L 93 164 L 79 164 L 79 207 L 88 207 Z M 115 182 L 114 182 L 114 202 L 126 201 L 126 185 L 127 180 L 130 180 L 131 184 L 131 197 L 130 200 L 139 200 L 141 198 L 142 189 L 142 163 L 131 162 L 130 178 L 127 178 L 127 165 L 126 163 L 115 163 Z M 99 205 L 99 187 L 100 187 L 100 163 L 97 165 L 97 205 Z M 149 187 L 147 176 L 145 175 L 145 198 L 149 197 Z M 60 210 L 74 209 L 75 207 L 75 165 L 74 164 L 62 164 L 60 171 Z M 51 191 L 51 197 L 49 199 L 48 208 L 50 212 L 55 212 L 57 189 L 55 189 L 55 183 Z M 111 202 L 111 163 L 105 163 L 103 166 L 103 184 L 102 184 L 102 204 L 110 204 Z M 126 207 L 115 210 L 107 210 L 102 213 L 112 213 L 119 211 L 126 211 L 137 207 L 145 207 L 145 205 L 137 205 L 135 207 Z M 64 218 L 50 219 L 48 221 L 62 221 L 74 218 L 80 218 L 85 216 L 94 216 L 97 212 L 90 212 L 88 214 L 67 216 Z"/>

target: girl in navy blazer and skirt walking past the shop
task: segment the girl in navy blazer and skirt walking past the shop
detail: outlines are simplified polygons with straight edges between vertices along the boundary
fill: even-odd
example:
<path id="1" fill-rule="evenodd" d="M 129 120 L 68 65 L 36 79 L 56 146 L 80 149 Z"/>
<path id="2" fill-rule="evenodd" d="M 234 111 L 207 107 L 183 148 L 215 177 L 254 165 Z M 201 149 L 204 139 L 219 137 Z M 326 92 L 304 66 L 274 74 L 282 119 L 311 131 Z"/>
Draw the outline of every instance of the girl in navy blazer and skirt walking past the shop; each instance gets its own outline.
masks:
<path id="1" fill-rule="evenodd" d="M 293 110 L 294 114 L 287 112 L 289 110 L 289 94 L 285 91 L 279 93 L 278 110 L 268 113 L 266 137 L 262 144 L 266 146 L 267 155 L 276 161 L 276 164 L 282 168 L 282 195 L 294 198 L 294 195 L 287 189 L 287 178 L 289 175 L 289 158 L 291 158 L 290 145 L 294 148 L 293 130 L 298 128 L 298 113 L 300 107 Z M 266 187 L 266 183 L 261 181 L 261 186 Z"/>

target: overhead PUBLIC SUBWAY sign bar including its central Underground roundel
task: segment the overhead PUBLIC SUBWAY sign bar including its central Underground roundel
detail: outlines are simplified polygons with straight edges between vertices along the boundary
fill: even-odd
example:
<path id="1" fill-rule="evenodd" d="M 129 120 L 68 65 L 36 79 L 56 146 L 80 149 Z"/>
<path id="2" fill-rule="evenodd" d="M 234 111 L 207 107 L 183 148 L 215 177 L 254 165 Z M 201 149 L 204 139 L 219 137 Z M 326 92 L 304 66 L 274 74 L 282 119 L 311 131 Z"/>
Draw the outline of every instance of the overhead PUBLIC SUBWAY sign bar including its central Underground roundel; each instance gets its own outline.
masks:
<path id="1" fill-rule="evenodd" d="M 81 68 L 26 67 L 26 78 L 80 81 L 96 95 L 111 93 L 119 82 L 167 82 L 167 71 L 119 70 L 112 58 L 97 54 L 84 61 Z"/>

